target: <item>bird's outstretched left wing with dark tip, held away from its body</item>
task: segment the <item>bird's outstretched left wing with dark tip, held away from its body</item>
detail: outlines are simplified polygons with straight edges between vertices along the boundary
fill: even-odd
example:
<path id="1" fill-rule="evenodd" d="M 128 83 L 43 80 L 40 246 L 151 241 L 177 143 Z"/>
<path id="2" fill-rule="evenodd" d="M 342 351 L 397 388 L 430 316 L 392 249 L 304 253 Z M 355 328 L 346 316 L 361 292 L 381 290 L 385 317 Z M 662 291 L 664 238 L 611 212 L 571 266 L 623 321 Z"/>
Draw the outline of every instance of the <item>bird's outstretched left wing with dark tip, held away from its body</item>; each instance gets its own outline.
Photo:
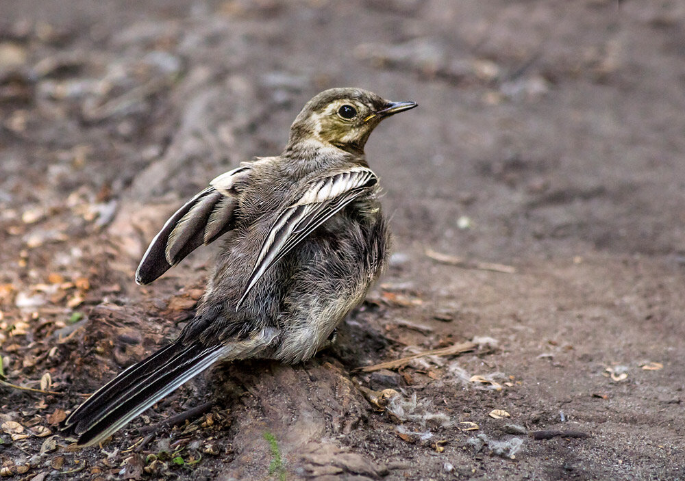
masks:
<path id="1" fill-rule="evenodd" d="M 136 271 L 138 284 L 149 284 L 202 244 L 210 244 L 235 226 L 236 181 L 247 176 L 244 164 L 210 182 L 210 187 L 178 209 L 142 257 Z"/>

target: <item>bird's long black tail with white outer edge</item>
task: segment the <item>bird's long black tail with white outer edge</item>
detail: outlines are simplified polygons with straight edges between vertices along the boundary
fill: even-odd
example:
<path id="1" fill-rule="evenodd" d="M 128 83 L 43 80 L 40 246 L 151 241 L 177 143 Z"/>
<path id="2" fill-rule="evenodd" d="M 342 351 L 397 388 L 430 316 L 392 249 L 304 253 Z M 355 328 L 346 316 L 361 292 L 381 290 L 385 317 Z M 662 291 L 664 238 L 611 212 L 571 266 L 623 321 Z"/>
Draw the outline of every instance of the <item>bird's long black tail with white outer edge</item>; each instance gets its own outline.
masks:
<path id="1" fill-rule="evenodd" d="M 171 343 L 116 376 L 66 418 L 62 430 L 89 446 L 103 441 L 221 359 L 222 346 Z"/>

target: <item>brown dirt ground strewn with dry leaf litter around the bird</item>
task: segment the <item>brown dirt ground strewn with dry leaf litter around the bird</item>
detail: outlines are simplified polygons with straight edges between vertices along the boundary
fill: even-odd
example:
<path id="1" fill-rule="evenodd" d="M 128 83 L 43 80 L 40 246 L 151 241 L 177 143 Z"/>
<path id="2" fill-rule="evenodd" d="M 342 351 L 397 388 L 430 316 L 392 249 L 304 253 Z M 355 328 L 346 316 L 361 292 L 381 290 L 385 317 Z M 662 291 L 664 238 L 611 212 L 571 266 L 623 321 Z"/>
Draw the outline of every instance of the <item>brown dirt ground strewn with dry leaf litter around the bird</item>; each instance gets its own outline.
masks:
<path id="1" fill-rule="evenodd" d="M 0 11 L 0 354 L 8 382 L 58 392 L 0 387 L 0 421 L 55 430 L 78 393 L 173 338 L 214 248 L 141 288 L 132 274 L 155 229 L 214 175 L 278 153 L 310 96 L 360 86 L 420 105 L 367 147 L 396 253 L 338 346 L 292 372 L 334 366 L 479 430 L 406 421 L 432 433 L 412 443 L 369 411 L 327 436 L 374 468 L 316 479 L 685 479 L 685 3 L 4 0 Z M 349 374 L 473 337 L 497 347 L 403 376 Z M 278 369 L 266 370 L 290 375 Z M 503 389 L 478 389 L 474 374 Z M 150 478 L 120 450 L 136 426 L 229 391 L 205 380 L 118 434 L 109 457 L 35 427 L 0 432 L 3 475 Z M 212 426 L 205 415 L 176 428 L 171 446 L 166 430 L 142 453 L 203 453 L 182 467 L 160 454 L 160 476 L 229 479 L 250 454 L 256 431 L 240 426 L 256 392 L 227 395 Z M 590 437 L 536 441 L 507 424 Z M 523 444 L 497 456 L 473 445 L 479 433 Z M 40 455 L 46 439 L 56 445 Z M 292 453 L 270 473 L 264 450 L 251 476 L 308 476 Z"/>

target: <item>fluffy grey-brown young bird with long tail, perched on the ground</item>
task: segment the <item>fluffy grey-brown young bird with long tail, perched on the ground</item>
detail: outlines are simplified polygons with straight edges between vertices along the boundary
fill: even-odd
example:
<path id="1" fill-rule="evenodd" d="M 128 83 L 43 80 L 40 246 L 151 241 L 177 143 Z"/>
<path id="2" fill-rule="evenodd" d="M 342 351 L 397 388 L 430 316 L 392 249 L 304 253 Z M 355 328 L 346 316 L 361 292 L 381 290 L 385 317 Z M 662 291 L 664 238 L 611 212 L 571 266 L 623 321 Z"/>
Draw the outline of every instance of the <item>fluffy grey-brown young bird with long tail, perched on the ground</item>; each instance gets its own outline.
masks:
<path id="1" fill-rule="evenodd" d="M 360 88 L 325 90 L 292 122 L 280 155 L 242 162 L 178 209 L 149 244 L 136 282 L 224 239 L 195 317 L 78 406 L 62 432 L 97 445 L 215 363 L 314 356 L 388 261 L 366 141 L 382 120 L 416 106 Z"/>

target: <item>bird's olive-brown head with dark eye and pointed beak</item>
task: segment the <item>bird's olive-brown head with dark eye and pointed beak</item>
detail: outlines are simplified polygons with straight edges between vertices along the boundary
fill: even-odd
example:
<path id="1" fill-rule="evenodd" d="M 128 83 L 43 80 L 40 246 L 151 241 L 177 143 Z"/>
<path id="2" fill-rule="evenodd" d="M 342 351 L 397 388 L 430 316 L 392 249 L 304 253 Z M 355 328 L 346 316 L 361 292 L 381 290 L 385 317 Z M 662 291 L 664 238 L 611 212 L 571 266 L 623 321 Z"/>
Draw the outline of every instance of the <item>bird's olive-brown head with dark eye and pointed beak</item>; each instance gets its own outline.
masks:
<path id="1" fill-rule="evenodd" d="M 332 88 L 314 96 L 290 127 L 288 146 L 308 140 L 363 153 L 369 134 L 384 118 L 416 107 L 391 102 L 360 88 Z"/>

